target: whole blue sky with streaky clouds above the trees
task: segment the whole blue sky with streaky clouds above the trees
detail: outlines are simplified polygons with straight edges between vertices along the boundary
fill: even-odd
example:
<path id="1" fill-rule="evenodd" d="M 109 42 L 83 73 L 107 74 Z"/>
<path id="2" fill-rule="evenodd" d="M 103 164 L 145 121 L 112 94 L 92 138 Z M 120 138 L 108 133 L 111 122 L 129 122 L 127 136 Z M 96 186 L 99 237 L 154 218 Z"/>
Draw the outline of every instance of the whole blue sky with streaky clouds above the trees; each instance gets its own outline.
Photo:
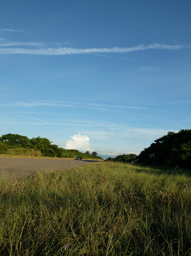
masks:
<path id="1" fill-rule="evenodd" d="M 139 154 L 191 129 L 190 0 L 1 0 L 0 136 Z"/>

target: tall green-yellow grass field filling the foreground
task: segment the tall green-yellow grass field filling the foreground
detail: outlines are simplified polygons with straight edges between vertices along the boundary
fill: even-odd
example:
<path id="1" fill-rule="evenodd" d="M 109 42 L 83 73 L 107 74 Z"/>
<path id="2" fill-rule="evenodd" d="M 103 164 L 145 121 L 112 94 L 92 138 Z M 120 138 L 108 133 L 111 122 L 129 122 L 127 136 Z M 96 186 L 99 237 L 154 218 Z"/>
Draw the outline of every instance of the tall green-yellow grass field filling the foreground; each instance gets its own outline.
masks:
<path id="1" fill-rule="evenodd" d="M 191 177 L 99 162 L 0 180 L 0 255 L 189 256 Z"/>

